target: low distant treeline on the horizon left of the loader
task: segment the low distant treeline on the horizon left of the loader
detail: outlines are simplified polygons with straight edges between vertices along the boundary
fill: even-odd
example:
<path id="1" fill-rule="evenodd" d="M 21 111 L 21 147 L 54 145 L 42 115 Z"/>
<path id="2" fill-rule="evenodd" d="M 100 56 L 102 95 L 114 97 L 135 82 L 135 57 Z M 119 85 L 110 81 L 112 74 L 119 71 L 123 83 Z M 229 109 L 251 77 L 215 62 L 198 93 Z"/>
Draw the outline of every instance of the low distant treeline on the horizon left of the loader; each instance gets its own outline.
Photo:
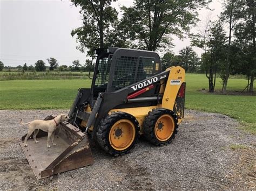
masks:
<path id="1" fill-rule="evenodd" d="M 49 66 L 46 66 L 45 62 L 43 60 L 38 60 L 35 65 L 27 66 L 26 63 L 24 63 L 23 66 L 18 65 L 17 67 L 11 67 L 11 66 L 4 66 L 4 63 L 0 61 L 0 71 L 9 71 L 11 70 L 17 70 L 17 71 L 37 71 L 37 72 L 44 72 L 46 70 L 57 70 L 57 71 L 76 71 L 76 72 L 89 72 L 90 69 L 93 72 L 95 65 L 91 65 L 90 60 L 86 60 L 84 65 L 80 64 L 79 60 L 74 60 L 72 62 L 72 66 L 67 65 L 59 65 L 57 60 L 55 58 L 49 58 L 47 59 Z"/>

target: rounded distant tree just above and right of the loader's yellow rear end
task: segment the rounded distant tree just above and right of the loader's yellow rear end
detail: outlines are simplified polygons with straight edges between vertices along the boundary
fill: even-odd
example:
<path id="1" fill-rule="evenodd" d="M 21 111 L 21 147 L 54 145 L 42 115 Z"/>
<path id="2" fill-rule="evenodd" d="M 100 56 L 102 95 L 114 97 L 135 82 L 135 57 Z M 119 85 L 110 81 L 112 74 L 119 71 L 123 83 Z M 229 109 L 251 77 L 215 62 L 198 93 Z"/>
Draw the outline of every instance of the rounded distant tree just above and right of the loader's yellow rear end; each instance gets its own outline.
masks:
<path id="1" fill-rule="evenodd" d="M 187 72 L 196 72 L 200 65 L 200 59 L 192 47 L 187 46 L 179 51 L 180 66 Z"/>

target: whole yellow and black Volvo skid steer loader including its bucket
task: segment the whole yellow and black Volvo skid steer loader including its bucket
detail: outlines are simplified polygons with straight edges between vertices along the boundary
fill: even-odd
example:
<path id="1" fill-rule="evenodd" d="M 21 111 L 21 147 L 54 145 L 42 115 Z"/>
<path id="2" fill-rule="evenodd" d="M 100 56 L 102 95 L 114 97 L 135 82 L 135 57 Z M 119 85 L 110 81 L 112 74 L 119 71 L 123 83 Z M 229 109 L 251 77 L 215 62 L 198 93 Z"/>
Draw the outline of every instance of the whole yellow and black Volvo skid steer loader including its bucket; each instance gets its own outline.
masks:
<path id="1" fill-rule="evenodd" d="M 184 117 L 183 68 L 162 72 L 159 55 L 151 51 L 109 47 L 95 54 L 91 88 L 78 90 L 69 122 L 59 124 L 57 146 L 41 150 L 32 136 L 28 147 L 20 143 L 38 179 L 93 164 L 89 139 L 117 157 L 129 153 L 140 135 L 161 146 L 177 133 Z M 45 145 L 47 133 L 38 136 Z"/>

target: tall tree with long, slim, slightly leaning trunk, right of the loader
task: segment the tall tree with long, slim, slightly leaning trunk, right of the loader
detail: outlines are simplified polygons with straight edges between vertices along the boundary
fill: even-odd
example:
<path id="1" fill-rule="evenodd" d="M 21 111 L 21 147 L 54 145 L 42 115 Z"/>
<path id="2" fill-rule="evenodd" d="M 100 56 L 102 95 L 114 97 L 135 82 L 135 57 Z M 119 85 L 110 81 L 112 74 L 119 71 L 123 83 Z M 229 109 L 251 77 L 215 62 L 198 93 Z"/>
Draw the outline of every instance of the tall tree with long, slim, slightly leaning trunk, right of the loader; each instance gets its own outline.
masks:
<path id="1" fill-rule="evenodd" d="M 224 86 L 223 93 L 226 94 L 227 80 L 230 76 L 231 67 L 231 37 L 232 31 L 238 21 L 241 19 L 241 3 L 242 1 L 236 0 L 225 0 L 223 2 L 224 11 L 221 12 L 220 18 L 224 22 L 228 23 L 228 45 L 226 54 L 226 64 L 225 64 L 225 75 L 224 75 Z"/>

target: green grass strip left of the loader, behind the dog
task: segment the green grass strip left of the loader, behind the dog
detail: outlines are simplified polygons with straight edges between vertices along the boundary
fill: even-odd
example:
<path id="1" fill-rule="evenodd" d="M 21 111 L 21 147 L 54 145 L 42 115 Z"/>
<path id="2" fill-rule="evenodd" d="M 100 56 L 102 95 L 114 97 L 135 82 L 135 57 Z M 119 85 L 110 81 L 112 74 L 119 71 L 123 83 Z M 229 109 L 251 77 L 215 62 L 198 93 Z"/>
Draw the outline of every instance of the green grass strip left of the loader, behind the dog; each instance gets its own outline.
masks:
<path id="1" fill-rule="evenodd" d="M 0 81 L 0 109 L 68 109 L 90 80 Z"/>

